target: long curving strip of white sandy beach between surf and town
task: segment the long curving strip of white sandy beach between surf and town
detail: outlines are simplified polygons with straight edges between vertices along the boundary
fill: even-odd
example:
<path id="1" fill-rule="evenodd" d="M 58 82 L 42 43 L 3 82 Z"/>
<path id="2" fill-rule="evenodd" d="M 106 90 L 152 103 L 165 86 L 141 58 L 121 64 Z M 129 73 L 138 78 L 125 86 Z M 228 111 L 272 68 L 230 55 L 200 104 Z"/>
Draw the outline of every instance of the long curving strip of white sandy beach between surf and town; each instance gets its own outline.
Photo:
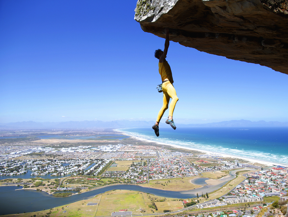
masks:
<path id="1" fill-rule="evenodd" d="M 137 136 L 129 134 L 129 132 L 126 132 L 126 131 L 123 132 L 121 130 L 125 130 L 125 129 L 115 129 L 115 131 L 118 132 L 118 133 L 121 133 L 121 134 L 126 135 L 126 136 L 130 136 L 130 137 L 132 137 L 134 139 L 137 139 L 137 140 L 140 140 L 140 141 L 144 141 L 144 142 L 154 142 L 156 144 L 160 144 L 160 145 L 164 145 L 164 146 L 171 146 L 171 147 L 175 147 L 175 148 L 181 148 L 181 149 L 187 149 L 187 150 L 193 150 L 193 151 L 200 151 L 203 154 L 217 154 L 217 155 L 221 155 L 223 157 L 243 159 L 243 160 L 249 161 L 248 163 L 251 164 L 251 165 L 253 165 L 254 163 L 260 163 L 260 164 L 263 164 L 263 166 L 267 166 L 267 167 L 273 167 L 274 165 L 279 165 L 278 162 L 271 162 L 271 161 L 265 161 L 265 160 L 255 159 L 255 158 L 242 157 L 242 156 L 239 156 L 239 155 L 224 154 L 224 153 L 217 152 L 217 151 L 207 151 L 207 150 L 199 149 L 199 148 L 192 148 L 192 147 L 186 147 L 186 146 L 179 146 L 179 145 L 175 145 L 175 144 L 157 142 L 157 141 L 154 141 L 154 140 L 148 140 L 148 139 L 145 139 L 145 138 L 137 137 Z M 288 166 L 288 164 L 286 164 L 286 163 L 281 163 L 280 165 Z"/>

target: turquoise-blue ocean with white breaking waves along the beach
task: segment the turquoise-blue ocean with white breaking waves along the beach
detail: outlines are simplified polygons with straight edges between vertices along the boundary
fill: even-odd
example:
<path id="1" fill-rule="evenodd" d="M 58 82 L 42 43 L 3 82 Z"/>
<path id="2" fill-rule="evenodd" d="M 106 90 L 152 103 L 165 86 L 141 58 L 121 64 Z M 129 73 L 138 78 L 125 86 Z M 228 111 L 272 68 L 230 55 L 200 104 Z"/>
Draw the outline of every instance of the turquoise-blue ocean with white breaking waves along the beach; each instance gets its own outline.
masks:
<path id="1" fill-rule="evenodd" d="M 155 142 L 288 165 L 288 127 L 177 127 L 120 129 Z"/>

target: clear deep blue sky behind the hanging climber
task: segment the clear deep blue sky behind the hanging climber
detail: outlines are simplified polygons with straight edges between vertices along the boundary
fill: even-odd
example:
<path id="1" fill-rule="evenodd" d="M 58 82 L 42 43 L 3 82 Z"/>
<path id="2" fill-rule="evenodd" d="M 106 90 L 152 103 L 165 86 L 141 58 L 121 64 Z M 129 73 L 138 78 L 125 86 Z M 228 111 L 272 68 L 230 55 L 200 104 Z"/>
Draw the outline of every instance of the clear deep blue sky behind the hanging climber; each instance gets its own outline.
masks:
<path id="1" fill-rule="evenodd" d="M 0 0 L 0 123 L 155 120 L 155 49 L 137 0 Z M 175 123 L 288 121 L 288 75 L 170 42 Z M 164 114 L 168 117 L 168 111 Z"/>

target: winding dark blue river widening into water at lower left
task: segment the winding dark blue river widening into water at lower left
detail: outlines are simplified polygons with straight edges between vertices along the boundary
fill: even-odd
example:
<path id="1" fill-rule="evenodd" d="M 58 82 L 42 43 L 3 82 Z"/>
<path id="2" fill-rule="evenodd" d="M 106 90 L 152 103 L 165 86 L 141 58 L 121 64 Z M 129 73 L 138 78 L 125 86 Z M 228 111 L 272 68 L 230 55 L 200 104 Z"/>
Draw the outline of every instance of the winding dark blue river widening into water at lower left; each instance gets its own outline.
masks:
<path id="1" fill-rule="evenodd" d="M 245 170 L 245 169 L 240 169 Z M 189 191 L 164 191 L 160 189 L 146 188 L 139 185 L 129 185 L 129 184 L 120 184 L 120 185 L 109 185 L 100 189 L 95 189 L 81 194 L 75 194 L 70 197 L 54 197 L 49 195 L 46 192 L 35 191 L 35 190 L 18 190 L 22 189 L 21 186 L 1 186 L 0 195 L 1 195 L 1 214 L 14 214 L 14 213 L 23 213 L 23 212 L 34 212 L 40 210 L 48 210 L 57 206 L 65 205 L 68 203 L 73 203 L 79 200 L 89 199 L 98 194 L 104 193 L 106 191 L 116 190 L 132 190 L 132 191 L 141 191 L 144 193 L 150 193 L 153 195 L 161 197 L 170 197 L 170 198 L 192 198 L 196 197 L 196 194 L 205 194 L 210 193 L 219 187 L 226 184 L 229 180 L 235 178 L 235 172 L 240 170 L 234 170 L 230 172 L 230 175 L 223 177 L 220 184 L 212 185 L 207 184 L 205 180 L 207 178 L 196 178 L 194 183 L 197 182 L 200 185 L 204 185 L 200 188 L 189 190 Z M 251 170 L 251 169 L 249 169 Z"/>

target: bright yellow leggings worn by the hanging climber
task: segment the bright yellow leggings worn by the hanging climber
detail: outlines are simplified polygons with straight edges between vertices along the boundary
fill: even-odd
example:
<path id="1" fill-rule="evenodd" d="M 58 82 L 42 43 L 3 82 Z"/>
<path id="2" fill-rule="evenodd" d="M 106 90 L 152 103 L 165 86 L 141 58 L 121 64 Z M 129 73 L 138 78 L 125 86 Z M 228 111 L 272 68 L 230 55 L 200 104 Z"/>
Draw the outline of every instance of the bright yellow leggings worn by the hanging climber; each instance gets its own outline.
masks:
<path id="1" fill-rule="evenodd" d="M 170 98 L 172 101 L 170 102 L 169 106 L 169 116 L 173 116 L 173 111 L 176 105 L 176 102 L 178 101 L 178 97 L 176 95 L 176 90 L 173 87 L 173 85 L 170 83 L 170 81 L 165 81 L 162 84 L 162 90 L 163 90 L 163 106 L 160 109 L 158 116 L 157 116 L 157 122 L 159 123 L 164 112 L 168 109 L 168 103 Z"/>

